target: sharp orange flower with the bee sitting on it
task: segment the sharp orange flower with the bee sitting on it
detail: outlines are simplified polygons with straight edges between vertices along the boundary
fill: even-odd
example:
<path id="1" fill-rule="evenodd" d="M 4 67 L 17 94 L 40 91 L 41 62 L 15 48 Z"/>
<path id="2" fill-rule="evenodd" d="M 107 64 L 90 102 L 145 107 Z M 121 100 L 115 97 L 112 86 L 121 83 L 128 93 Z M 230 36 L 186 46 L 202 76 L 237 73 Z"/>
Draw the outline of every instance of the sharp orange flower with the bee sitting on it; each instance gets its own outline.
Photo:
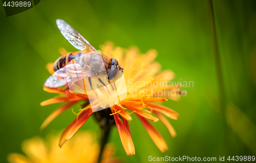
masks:
<path id="1" fill-rule="evenodd" d="M 148 120 L 157 122 L 160 119 L 170 132 L 170 135 L 172 137 L 176 136 L 176 131 L 165 116 L 177 120 L 179 114 L 159 104 L 163 101 L 167 101 L 167 99 L 178 100 L 179 95 L 185 94 L 185 92 L 179 90 L 181 85 L 168 84 L 168 81 L 174 78 L 174 73 L 170 70 L 159 72 L 161 68 L 160 64 L 154 62 L 157 56 L 155 50 L 150 50 L 145 55 L 140 55 L 137 48 L 123 50 L 119 47 L 114 48 L 113 44 L 108 42 L 102 45 L 101 53 L 115 58 L 124 68 L 127 96 L 123 101 L 110 107 L 112 114 L 110 114 L 111 112 L 107 114 L 108 111 L 104 112 L 107 118 L 113 119 L 114 117 L 126 154 L 135 154 L 128 122 L 132 120 L 130 114 L 133 112 L 137 115 L 156 146 L 161 152 L 164 152 L 168 149 L 167 144 L 162 135 Z M 48 67 L 50 66 L 48 65 Z M 101 91 L 100 87 L 98 88 L 99 91 Z M 57 115 L 67 110 L 67 108 L 74 105 L 76 102 L 82 100 L 88 101 L 86 94 L 75 94 L 69 91 L 68 87 L 44 89 L 48 92 L 64 94 L 65 96 L 44 101 L 41 103 L 42 106 L 60 102 L 67 102 L 67 104 L 54 111 L 42 124 L 41 129 L 44 129 Z M 97 112 L 93 113 L 91 105 L 100 107 L 101 104 L 99 104 L 99 101 L 95 98 L 93 103 L 80 109 L 77 119 L 75 119 L 61 135 L 59 142 L 60 147 L 68 139 L 72 138 L 92 114 L 97 114 Z M 152 115 L 152 113 L 154 113 L 154 115 Z M 120 118 L 122 118 L 122 121 Z"/>

